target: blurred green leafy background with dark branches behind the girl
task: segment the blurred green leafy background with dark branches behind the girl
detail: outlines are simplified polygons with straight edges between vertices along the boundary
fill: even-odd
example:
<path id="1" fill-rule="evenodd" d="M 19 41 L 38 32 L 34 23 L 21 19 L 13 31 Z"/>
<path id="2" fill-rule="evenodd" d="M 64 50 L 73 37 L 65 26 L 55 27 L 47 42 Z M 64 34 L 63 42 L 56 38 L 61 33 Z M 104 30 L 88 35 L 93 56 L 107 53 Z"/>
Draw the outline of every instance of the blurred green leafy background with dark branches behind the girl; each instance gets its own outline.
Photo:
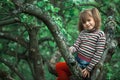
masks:
<path id="1" fill-rule="evenodd" d="M 41 66 L 38 72 L 38 75 L 43 76 L 41 80 L 55 80 L 56 76 L 49 72 L 46 63 L 58 47 L 48 27 L 40 18 L 36 18 L 39 10 L 42 11 L 42 15 L 47 14 L 51 18 L 67 45 L 71 46 L 79 34 L 79 13 L 93 7 L 100 11 L 102 30 L 108 18 L 112 17 L 115 22 L 113 37 L 118 41 L 118 45 L 114 48 L 112 57 L 104 64 L 104 69 L 106 80 L 119 80 L 119 2 L 120 0 L 0 0 L 0 80 L 38 80 L 35 78 L 37 69 L 34 63 Z M 31 9 L 32 5 L 36 6 L 39 9 L 38 14 L 27 14 L 24 5 L 30 6 Z M 40 62 L 35 62 L 36 59 Z M 61 58 L 60 61 L 64 59 Z"/>

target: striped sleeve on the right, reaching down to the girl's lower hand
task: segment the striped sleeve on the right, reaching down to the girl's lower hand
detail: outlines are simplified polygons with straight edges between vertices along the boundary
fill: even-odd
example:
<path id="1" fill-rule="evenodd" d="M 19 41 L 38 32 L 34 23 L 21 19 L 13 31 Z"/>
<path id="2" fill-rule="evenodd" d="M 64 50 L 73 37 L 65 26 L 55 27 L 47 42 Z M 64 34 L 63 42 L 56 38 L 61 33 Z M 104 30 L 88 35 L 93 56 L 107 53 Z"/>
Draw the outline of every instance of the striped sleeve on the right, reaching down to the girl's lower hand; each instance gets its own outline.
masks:
<path id="1" fill-rule="evenodd" d="M 90 64 L 86 67 L 87 70 L 91 71 L 94 66 L 101 60 L 102 54 L 104 52 L 105 49 L 105 34 L 104 32 L 100 35 L 97 44 L 96 44 L 96 52 L 93 55 Z"/>

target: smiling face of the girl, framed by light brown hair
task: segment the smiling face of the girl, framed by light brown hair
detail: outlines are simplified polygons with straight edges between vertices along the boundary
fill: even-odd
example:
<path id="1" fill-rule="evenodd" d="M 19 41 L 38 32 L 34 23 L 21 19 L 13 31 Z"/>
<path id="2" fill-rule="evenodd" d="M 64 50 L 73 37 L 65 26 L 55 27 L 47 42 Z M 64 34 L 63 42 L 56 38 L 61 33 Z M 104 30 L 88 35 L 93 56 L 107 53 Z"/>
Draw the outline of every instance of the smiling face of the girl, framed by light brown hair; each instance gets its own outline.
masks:
<path id="1" fill-rule="evenodd" d="M 94 27 L 95 27 L 95 21 L 94 21 L 93 17 L 88 16 L 86 21 L 83 23 L 83 28 L 85 30 L 92 30 L 92 29 L 94 29 Z"/>

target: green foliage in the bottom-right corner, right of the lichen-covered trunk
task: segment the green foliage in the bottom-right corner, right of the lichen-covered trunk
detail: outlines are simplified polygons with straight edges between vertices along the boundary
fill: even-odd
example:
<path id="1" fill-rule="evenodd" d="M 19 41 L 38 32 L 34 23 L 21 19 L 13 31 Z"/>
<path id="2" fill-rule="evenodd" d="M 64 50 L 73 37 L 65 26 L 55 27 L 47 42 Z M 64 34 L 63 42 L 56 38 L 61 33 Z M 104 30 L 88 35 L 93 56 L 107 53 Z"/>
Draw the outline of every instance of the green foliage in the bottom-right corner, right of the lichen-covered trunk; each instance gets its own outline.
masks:
<path id="1" fill-rule="evenodd" d="M 116 51 L 115 51 L 115 54 L 112 57 L 111 62 L 105 64 L 105 68 L 108 72 L 107 77 L 106 77 L 107 80 L 118 80 L 118 79 L 120 79 L 120 76 L 119 76 L 120 75 L 120 69 L 119 69 L 119 67 L 120 67 L 120 62 L 119 62 L 120 54 L 119 54 L 119 52 L 120 52 L 120 48 L 117 47 Z"/>

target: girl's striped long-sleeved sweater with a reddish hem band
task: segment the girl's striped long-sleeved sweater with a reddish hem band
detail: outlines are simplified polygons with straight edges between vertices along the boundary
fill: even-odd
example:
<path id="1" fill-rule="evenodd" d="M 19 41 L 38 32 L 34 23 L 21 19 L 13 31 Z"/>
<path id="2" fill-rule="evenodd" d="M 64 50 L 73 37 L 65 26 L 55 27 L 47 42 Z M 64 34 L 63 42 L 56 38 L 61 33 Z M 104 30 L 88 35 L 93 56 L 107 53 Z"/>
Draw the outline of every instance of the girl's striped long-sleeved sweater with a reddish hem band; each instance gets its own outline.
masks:
<path id="1" fill-rule="evenodd" d="M 74 47 L 74 52 L 78 53 L 78 57 L 90 62 L 86 67 L 91 71 L 94 66 L 100 61 L 105 46 L 105 34 L 101 30 L 94 32 L 81 31 Z"/>

